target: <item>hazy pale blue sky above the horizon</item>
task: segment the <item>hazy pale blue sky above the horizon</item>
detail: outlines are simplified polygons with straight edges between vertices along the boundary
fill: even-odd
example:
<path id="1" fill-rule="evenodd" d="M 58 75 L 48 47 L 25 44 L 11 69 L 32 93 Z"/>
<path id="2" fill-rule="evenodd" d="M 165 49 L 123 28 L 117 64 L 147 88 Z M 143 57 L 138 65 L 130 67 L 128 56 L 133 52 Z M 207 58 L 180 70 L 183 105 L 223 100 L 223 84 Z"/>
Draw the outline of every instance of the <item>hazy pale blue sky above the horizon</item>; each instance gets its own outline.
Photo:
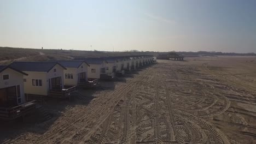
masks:
<path id="1" fill-rule="evenodd" d="M 0 46 L 256 52 L 256 1 L 0 0 Z"/>

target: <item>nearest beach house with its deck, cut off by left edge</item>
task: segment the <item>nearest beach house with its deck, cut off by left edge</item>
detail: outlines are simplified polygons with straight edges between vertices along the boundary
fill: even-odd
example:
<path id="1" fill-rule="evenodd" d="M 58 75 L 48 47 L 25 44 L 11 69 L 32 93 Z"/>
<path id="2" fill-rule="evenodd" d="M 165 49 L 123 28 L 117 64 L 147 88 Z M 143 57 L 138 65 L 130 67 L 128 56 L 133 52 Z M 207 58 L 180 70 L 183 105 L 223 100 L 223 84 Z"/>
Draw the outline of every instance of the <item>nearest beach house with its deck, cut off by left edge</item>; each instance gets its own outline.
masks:
<path id="1" fill-rule="evenodd" d="M 23 78 L 27 75 L 20 70 L 0 65 L 0 119 L 15 119 L 36 109 L 34 101 L 27 103 L 25 98 Z"/>

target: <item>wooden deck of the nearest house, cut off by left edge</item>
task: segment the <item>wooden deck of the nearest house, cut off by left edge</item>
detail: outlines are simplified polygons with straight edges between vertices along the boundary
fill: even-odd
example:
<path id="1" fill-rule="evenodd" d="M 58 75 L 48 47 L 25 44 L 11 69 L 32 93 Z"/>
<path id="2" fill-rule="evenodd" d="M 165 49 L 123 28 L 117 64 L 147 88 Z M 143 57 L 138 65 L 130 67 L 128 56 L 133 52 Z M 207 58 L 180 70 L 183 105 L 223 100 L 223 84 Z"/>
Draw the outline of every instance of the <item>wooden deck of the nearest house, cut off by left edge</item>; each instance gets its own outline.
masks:
<path id="1" fill-rule="evenodd" d="M 0 119 L 10 121 L 36 110 L 36 100 L 14 107 L 0 107 Z"/>

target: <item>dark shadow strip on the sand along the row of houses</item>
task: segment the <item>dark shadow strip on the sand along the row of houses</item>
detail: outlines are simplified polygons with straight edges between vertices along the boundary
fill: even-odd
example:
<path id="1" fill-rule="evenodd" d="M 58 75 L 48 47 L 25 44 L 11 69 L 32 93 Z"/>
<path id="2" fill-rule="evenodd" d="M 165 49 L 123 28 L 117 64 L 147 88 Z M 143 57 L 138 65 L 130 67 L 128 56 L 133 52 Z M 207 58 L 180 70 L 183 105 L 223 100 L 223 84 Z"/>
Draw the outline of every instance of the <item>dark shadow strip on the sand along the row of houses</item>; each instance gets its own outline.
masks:
<path id="1" fill-rule="evenodd" d="M 143 69 L 118 76 L 113 80 L 100 80 L 100 86 L 95 88 L 77 87 L 71 99 L 46 98 L 44 103 L 38 104 L 36 111 L 26 116 L 25 122 L 22 118 L 10 122 L 0 121 L 0 143 L 10 143 L 11 140 L 19 139 L 25 133 L 45 134 L 65 111 L 77 105 L 89 105 L 93 99 L 97 98 L 95 95 L 104 91 L 114 91 L 117 85 L 126 83 L 127 79 L 136 76 L 138 71 Z"/>

